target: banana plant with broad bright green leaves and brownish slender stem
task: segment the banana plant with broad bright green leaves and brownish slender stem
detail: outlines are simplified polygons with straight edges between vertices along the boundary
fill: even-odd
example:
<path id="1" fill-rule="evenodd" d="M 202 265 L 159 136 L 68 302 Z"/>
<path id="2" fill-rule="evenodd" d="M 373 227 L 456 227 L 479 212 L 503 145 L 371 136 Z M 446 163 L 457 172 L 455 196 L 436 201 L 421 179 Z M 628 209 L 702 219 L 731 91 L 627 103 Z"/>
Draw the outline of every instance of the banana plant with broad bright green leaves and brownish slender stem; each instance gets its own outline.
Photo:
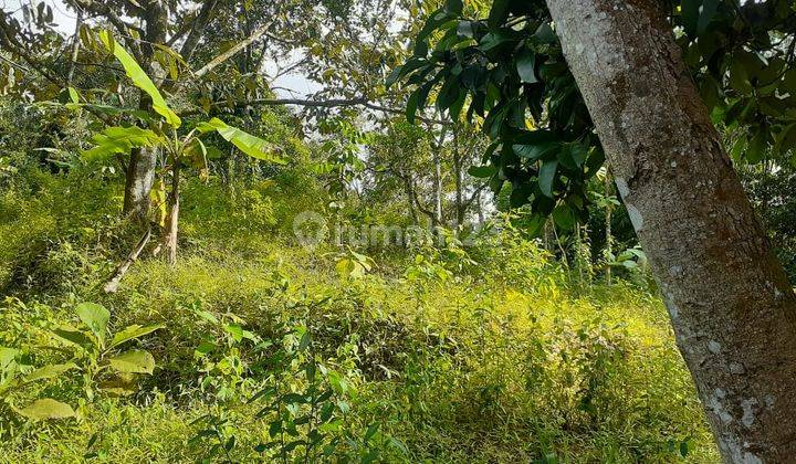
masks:
<path id="1" fill-rule="evenodd" d="M 149 147 L 164 155 L 166 169 L 161 172 L 159 189 L 153 192 L 154 200 L 159 202 L 159 224 L 164 230 L 164 245 L 170 264 L 177 260 L 177 231 L 179 220 L 179 180 L 181 168 L 195 167 L 206 173 L 208 158 L 212 152 L 208 150 L 202 136 L 217 133 L 224 140 L 232 144 L 245 155 L 272 164 L 283 165 L 285 160 L 273 154 L 270 145 L 251 134 L 226 124 L 219 118 L 200 122 L 187 133 L 180 131 L 182 120 L 174 112 L 160 94 L 151 78 L 135 61 L 135 59 L 119 45 L 113 34 L 101 31 L 100 39 L 122 64 L 133 85 L 144 91 L 151 98 L 151 110 L 130 110 L 81 102 L 76 89 L 69 87 L 72 99 L 67 107 L 88 107 L 107 114 L 129 114 L 143 120 L 147 127 L 137 125 L 111 126 L 92 137 L 94 147 L 84 151 L 82 157 L 87 161 L 104 160 L 113 156 L 125 156 L 134 148 Z M 170 191 L 166 194 L 166 180 L 170 178 Z"/>

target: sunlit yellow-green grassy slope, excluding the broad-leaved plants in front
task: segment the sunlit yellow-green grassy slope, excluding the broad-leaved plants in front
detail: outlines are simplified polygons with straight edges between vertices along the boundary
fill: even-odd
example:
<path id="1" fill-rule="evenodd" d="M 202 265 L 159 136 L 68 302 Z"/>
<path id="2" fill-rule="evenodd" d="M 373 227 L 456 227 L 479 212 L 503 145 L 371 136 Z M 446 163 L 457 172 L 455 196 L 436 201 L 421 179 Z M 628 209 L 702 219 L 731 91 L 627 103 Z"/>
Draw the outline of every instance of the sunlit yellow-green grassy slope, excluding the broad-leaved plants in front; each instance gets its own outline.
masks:
<path id="1" fill-rule="evenodd" d="M 0 277 L 32 277 L 7 287 L 27 306 L 8 300 L 2 307 L 0 345 L 44 342 L 42 327 L 74 320 L 74 303 L 86 299 L 111 308 L 116 328 L 167 327 L 142 342 L 158 369 L 142 379 L 139 393 L 100 396 L 80 408 L 80 421 L 19 425 L 0 442 L 0 461 L 77 462 L 93 434 L 91 451 L 103 462 L 193 461 L 205 449 L 187 444 L 198 430 L 191 421 L 213 411 L 230 418 L 232 457 L 258 458 L 252 447 L 266 439 L 268 421 L 253 419 L 243 403 L 266 382 L 252 369 L 254 344 L 230 342 L 219 355 L 239 359 L 241 373 L 218 363 L 208 373 L 193 350 L 226 335 L 197 310 L 237 320 L 263 339 L 283 323 L 310 327 L 318 357 L 356 387 L 352 430 L 378 422 L 406 444 L 408 455 L 387 453 L 387 460 L 527 462 L 555 454 L 564 462 L 670 462 L 680 460 L 682 444 L 687 461 L 718 461 L 666 312 L 630 285 L 577 291 L 537 251 L 527 255 L 527 244 L 513 242 L 506 246 L 516 249 L 505 253 L 474 250 L 482 264 L 447 280 L 404 278 L 413 264 L 401 257 L 377 259 L 381 271 L 346 280 L 334 272 L 333 257 L 297 247 L 284 233 L 187 208 L 180 264 L 137 263 L 108 297 L 95 287 L 113 263 L 106 244 L 126 243 L 103 235 L 113 230 L 102 218 L 113 215 L 114 202 L 84 211 L 63 199 L 62 183 L 48 182 L 51 197 L 3 198 L 4 211 L 18 213 L 0 220 L 9 238 L 0 245 Z M 186 204 L 222 194 L 197 186 L 188 191 Z M 111 193 L 92 194 L 96 202 Z M 70 208 L 69 217 L 59 213 Z M 86 224 L 92 230 L 81 229 Z M 18 253 L 22 247 L 38 257 Z M 308 312 L 300 304 L 306 300 L 324 303 Z M 46 393 L 77 405 L 81 392 L 71 384 L 65 379 Z M 28 393 L 15 401 L 39 394 Z"/>

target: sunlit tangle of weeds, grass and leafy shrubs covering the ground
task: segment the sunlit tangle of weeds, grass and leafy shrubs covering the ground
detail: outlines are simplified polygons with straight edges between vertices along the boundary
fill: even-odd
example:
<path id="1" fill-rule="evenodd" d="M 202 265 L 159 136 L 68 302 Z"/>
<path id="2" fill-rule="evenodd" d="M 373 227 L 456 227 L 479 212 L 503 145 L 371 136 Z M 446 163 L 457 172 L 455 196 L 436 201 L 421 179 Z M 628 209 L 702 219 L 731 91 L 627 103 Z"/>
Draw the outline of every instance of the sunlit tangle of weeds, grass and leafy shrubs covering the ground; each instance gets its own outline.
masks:
<path id="1" fill-rule="evenodd" d="M 190 180 L 182 260 L 138 263 L 106 295 L 96 283 L 124 253 L 105 245 L 123 239 L 105 235 L 117 208 L 100 201 L 106 180 L 29 172 L 52 196 L 2 197 L 15 211 L 3 232 L 48 224 L 27 229 L 29 253 L 2 246 L 3 391 L 24 382 L 3 394 L 10 462 L 715 457 L 658 299 L 626 282 L 579 285 L 509 223 L 468 249 L 371 251 L 370 272 L 341 274 L 334 244 L 308 250 L 241 219 L 251 198 L 272 211 L 305 201 L 277 193 L 284 181 L 219 215 L 230 189 L 260 190 Z M 161 327 L 121 347 L 150 352 L 151 376 L 115 378 L 113 344 L 103 355 L 59 336 L 85 302 L 108 308 L 106 340 Z M 32 412 L 43 398 L 71 412 Z"/>

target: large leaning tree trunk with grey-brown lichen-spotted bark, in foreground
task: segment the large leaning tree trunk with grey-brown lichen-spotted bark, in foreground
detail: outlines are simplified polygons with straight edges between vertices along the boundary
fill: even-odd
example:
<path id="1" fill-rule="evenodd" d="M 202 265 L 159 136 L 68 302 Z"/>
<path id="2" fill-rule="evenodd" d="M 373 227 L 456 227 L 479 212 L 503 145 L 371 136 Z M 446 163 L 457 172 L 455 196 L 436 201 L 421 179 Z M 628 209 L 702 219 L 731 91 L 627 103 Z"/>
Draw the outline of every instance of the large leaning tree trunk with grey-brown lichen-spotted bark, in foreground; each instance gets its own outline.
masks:
<path id="1" fill-rule="evenodd" d="M 796 299 L 654 0 L 547 0 L 722 457 L 796 456 Z"/>

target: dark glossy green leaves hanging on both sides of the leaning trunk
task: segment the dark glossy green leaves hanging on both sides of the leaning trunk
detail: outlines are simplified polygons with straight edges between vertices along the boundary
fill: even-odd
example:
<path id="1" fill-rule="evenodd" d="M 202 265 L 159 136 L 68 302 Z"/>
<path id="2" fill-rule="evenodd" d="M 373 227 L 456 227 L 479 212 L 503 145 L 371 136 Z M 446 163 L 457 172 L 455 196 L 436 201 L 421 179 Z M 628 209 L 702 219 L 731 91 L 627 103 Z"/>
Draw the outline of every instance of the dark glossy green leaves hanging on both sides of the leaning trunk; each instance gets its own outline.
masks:
<path id="1" fill-rule="evenodd" d="M 716 122 L 744 129 L 735 159 L 788 155 L 796 144 L 789 109 L 796 12 L 783 1 L 670 3 L 669 20 L 704 103 Z M 493 140 L 483 161 L 494 167 L 481 173 L 491 172 L 495 192 L 511 182 L 512 205 L 553 213 L 563 229 L 586 220 L 586 182 L 604 155 L 543 1 L 494 1 L 488 18 L 446 2 L 427 18 L 413 55 L 388 84 L 399 80 L 413 88 L 409 120 L 430 102 L 454 120 L 462 112 L 480 118 Z M 543 221 L 535 222 L 540 232 Z"/>

